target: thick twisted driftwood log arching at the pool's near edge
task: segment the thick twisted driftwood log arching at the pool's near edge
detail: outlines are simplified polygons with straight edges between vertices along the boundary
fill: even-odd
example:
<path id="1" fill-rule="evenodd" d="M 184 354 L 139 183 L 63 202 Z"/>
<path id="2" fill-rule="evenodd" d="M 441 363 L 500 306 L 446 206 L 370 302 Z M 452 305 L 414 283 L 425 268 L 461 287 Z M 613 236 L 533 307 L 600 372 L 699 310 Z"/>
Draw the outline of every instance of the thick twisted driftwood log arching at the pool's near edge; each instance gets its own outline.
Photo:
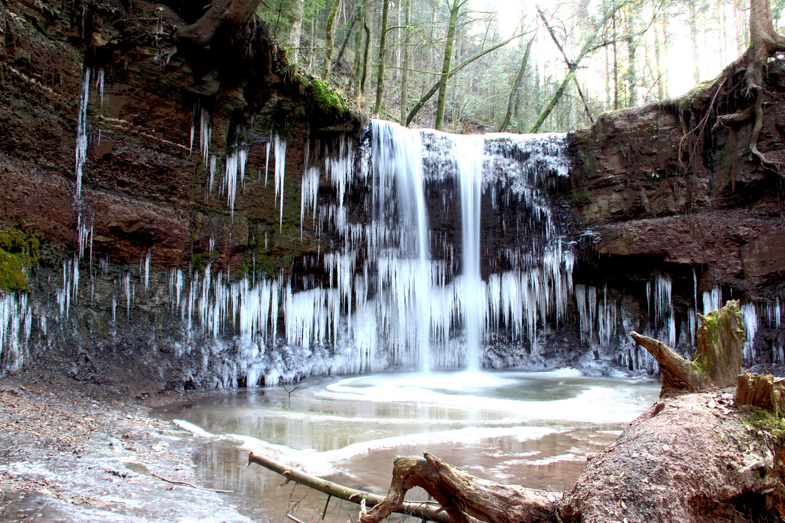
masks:
<path id="1" fill-rule="evenodd" d="M 554 492 L 506 485 L 475 478 L 425 452 L 397 457 L 387 497 L 370 512 L 360 507 L 360 523 L 378 523 L 403 503 L 406 491 L 414 486 L 425 489 L 455 523 L 469 523 L 471 516 L 487 523 L 534 523 L 550 521 L 560 495 Z"/>

